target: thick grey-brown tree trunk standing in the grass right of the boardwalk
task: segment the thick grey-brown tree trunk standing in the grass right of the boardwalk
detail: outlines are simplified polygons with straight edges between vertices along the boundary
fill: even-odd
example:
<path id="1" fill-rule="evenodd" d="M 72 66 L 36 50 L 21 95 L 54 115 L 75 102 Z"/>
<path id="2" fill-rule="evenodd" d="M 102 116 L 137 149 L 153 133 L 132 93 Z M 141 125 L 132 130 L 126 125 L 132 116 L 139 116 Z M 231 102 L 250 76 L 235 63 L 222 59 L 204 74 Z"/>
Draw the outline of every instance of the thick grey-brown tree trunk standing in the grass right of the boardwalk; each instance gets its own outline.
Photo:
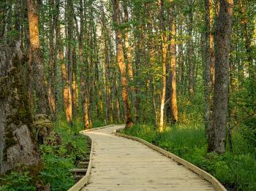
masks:
<path id="1" fill-rule="evenodd" d="M 220 0 L 215 38 L 216 62 L 213 121 L 208 139 L 208 152 L 225 152 L 232 14 L 233 0 Z"/>

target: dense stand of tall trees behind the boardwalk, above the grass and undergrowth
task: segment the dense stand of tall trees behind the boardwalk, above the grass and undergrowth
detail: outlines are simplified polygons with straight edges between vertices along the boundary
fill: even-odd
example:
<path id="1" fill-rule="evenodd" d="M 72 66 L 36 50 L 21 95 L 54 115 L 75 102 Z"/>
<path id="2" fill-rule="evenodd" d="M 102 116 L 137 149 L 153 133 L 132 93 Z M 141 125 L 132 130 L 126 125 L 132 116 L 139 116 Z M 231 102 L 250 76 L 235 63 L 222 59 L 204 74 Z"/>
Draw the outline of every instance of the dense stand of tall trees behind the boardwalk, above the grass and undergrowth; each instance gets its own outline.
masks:
<path id="1" fill-rule="evenodd" d="M 250 0 L 2 0 L 0 43 L 18 41 L 28 57 L 32 114 L 159 132 L 204 117 L 208 151 L 222 153 L 233 129 L 255 124 L 255 10 Z"/>

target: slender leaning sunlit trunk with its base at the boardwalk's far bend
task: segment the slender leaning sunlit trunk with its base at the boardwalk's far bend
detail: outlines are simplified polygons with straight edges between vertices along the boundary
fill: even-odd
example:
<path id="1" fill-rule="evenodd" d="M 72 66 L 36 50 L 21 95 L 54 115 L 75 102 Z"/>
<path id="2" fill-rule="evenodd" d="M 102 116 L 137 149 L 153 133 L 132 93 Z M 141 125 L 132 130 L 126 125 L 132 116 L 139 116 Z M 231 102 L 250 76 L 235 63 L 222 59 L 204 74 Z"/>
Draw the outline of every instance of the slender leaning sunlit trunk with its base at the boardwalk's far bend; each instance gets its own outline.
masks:
<path id="1" fill-rule="evenodd" d="M 132 114 L 131 109 L 129 106 L 129 93 L 128 93 L 128 83 L 127 83 L 127 67 L 124 63 L 124 51 L 123 45 L 121 42 L 121 23 L 120 23 L 120 7 L 119 7 L 119 0 L 112 0 L 113 2 L 113 12 L 114 12 L 114 22 L 117 23 L 116 28 L 116 52 L 117 52 L 117 61 L 118 66 L 121 73 L 121 85 L 122 85 L 122 98 L 124 101 L 124 109 L 126 113 L 126 125 L 127 127 L 132 127 Z"/>

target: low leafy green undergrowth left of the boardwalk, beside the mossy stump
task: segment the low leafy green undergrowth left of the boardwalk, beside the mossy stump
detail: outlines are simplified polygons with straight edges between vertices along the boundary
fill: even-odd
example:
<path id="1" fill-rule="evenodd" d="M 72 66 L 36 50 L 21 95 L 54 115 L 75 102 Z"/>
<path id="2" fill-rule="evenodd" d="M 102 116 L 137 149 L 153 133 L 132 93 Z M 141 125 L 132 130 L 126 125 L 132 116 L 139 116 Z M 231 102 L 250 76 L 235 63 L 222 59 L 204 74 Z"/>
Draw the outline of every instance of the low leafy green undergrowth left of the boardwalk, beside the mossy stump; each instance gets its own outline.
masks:
<path id="1" fill-rule="evenodd" d="M 84 160 L 87 139 L 79 135 L 83 130 L 80 120 L 72 128 L 59 120 L 46 144 L 39 147 L 42 163 L 40 165 L 20 166 L 0 177 L 0 190 L 36 190 L 50 184 L 50 190 L 68 190 L 75 184 L 69 169 Z"/>

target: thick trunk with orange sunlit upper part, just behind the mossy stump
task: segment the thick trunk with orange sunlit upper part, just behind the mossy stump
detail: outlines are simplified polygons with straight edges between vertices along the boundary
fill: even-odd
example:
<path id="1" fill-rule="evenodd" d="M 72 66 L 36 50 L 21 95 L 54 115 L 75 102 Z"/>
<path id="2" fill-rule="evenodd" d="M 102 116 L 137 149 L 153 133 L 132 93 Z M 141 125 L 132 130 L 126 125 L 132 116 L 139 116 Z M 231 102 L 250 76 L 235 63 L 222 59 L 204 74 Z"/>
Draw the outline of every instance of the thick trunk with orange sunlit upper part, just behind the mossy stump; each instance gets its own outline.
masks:
<path id="1" fill-rule="evenodd" d="M 45 85 L 44 65 L 42 61 L 42 52 L 39 42 L 39 18 L 37 15 L 37 7 L 34 0 L 27 0 L 28 18 L 29 18 L 29 66 L 31 67 L 30 84 L 34 82 L 36 95 L 38 98 L 37 114 L 50 114 L 50 106 L 48 102 L 47 88 Z M 32 92 L 30 92 L 30 96 Z"/>

